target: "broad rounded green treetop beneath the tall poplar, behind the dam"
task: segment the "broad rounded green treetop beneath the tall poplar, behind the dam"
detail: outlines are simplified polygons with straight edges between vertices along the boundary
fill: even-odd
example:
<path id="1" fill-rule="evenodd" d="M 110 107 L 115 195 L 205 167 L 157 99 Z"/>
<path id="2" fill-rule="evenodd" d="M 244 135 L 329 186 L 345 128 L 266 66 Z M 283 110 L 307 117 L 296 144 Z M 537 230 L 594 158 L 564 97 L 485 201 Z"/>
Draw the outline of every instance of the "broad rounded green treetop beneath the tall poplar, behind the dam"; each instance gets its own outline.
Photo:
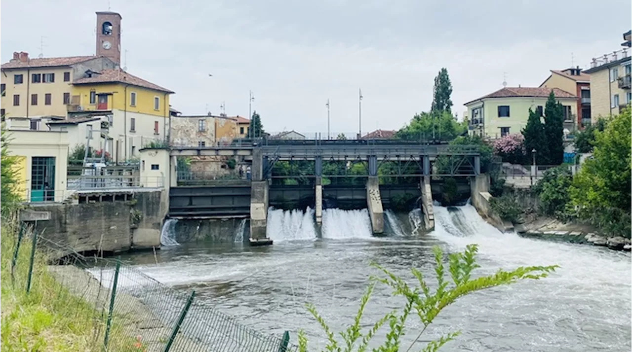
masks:
<path id="1" fill-rule="evenodd" d="M 395 137 L 419 141 L 452 141 L 465 134 L 466 131 L 465 124 L 459 123 L 449 112 L 441 112 L 437 115 L 422 112 L 415 115 L 410 120 L 410 124 L 399 129 Z"/>

